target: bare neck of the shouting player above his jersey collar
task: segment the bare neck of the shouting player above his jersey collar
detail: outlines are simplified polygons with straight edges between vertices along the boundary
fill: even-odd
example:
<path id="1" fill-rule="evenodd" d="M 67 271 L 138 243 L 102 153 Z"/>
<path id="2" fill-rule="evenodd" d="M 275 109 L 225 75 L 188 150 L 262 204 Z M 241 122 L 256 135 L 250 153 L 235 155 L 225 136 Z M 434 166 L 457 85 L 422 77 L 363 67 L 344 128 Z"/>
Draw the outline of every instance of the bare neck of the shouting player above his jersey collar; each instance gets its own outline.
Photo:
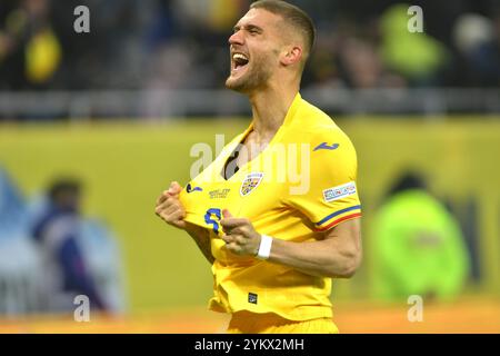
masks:
<path id="1" fill-rule="evenodd" d="M 281 127 L 297 92 L 298 85 L 269 86 L 249 96 L 253 131 L 259 141 L 269 141 Z"/>

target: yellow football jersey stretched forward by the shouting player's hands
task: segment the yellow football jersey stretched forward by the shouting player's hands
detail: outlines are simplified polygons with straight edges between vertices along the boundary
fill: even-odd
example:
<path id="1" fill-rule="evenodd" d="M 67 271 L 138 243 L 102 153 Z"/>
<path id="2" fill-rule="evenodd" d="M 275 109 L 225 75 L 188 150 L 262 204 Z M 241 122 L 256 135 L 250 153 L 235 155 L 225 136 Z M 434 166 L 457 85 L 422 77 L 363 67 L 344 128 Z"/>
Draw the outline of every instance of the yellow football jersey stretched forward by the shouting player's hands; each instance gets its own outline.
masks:
<path id="1" fill-rule="evenodd" d="M 361 215 L 357 157 L 329 116 L 298 93 L 270 144 L 224 179 L 228 159 L 252 125 L 181 191 L 186 220 L 211 231 L 216 312 L 274 313 L 290 320 L 331 317 L 331 278 L 227 250 L 222 209 L 246 217 L 260 234 L 293 243 Z"/>

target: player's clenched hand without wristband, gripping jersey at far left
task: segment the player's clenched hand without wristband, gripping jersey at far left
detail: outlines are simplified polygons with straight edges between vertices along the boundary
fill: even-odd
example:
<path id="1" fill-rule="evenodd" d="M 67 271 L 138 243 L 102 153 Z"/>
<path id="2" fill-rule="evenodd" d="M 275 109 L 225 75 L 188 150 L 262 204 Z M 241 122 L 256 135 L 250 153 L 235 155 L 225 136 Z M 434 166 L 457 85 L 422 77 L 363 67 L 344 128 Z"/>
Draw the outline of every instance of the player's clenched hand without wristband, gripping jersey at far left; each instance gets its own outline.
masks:
<path id="1" fill-rule="evenodd" d="M 186 210 L 179 200 L 179 194 L 181 190 L 182 187 L 177 181 L 172 181 L 169 189 L 163 190 L 163 192 L 158 197 L 154 212 L 167 224 L 179 229 L 186 229 L 187 224 L 183 220 L 186 217 Z"/>

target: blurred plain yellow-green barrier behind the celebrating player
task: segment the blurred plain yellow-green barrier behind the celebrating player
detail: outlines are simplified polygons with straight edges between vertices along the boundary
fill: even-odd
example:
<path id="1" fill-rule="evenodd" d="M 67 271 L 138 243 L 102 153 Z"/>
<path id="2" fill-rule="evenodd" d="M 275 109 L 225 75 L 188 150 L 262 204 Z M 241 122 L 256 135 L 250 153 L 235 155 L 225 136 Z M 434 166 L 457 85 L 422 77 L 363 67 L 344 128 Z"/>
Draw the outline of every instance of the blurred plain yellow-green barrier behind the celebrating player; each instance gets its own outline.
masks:
<path id="1" fill-rule="evenodd" d="M 359 158 L 363 224 L 394 175 L 417 167 L 439 196 L 480 204 L 481 290 L 499 291 L 498 201 L 500 120 L 339 120 Z M 86 211 L 103 217 L 121 238 L 132 310 L 204 305 L 211 273 L 190 238 L 167 227 L 153 211 L 154 200 L 171 180 L 184 185 L 196 142 L 214 147 L 247 126 L 244 120 L 194 120 L 166 125 L 113 122 L 91 125 L 0 126 L 0 164 L 28 194 L 40 191 L 58 174 L 82 179 Z M 369 295 L 369 229 L 364 265 L 351 281 L 333 285 L 334 298 Z"/>

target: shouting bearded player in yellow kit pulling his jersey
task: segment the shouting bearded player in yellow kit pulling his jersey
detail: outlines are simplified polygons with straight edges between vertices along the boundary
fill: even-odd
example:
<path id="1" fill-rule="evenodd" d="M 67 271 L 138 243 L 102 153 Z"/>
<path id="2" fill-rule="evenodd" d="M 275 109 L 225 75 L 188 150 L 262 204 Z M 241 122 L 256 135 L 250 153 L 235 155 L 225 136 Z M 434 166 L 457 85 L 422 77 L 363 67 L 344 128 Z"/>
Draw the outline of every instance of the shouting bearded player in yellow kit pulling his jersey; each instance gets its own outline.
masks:
<path id="1" fill-rule="evenodd" d="M 186 189 L 172 182 L 157 200 L 212 264 L 209 307 L 232 315 L 228 333 L 337 333 L 331 280 L 361 261 L 354 148 L 299 93 L 313 41 L 299 8 L 250 6 L 229 38 L 226 86 L 249 98 L 252 121 Z"/>

